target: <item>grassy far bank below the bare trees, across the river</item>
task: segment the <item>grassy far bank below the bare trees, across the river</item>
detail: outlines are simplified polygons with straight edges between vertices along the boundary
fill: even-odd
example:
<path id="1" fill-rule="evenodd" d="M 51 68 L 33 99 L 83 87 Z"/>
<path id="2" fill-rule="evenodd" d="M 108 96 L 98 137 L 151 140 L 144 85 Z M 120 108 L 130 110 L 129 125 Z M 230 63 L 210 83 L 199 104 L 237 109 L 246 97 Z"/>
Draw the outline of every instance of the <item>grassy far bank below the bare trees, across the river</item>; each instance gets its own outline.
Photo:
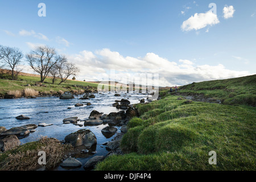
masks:
<path id="1" fill-rule="evenodd" d="M 59 80 L 56 81 L 56 84 L 52 84 L 51 78 L 46 78 L 43 83 L 44 86 L 35 86 L 36 82 L 39 82 L 39 77 L 33 76 L 19 76 L 18 80 L 3 80 L 0 79 L 0 95 L 4 96 L 8 92 L 17 92 L 22 93 L 24 89 L 28 88 L 25 85 L 30 84 L 30 89 L 34 89 L 42 94 L 61 94 L 65 91 L 72 91 L 74 93 L 79 93 L 84 90 L 86 86 L 92 86 L 97 88 L 97 83 L 91 82 L 82 82 L 82 81 L 73 81 L 67 80 L 64 83 L 59 85 Z"/>

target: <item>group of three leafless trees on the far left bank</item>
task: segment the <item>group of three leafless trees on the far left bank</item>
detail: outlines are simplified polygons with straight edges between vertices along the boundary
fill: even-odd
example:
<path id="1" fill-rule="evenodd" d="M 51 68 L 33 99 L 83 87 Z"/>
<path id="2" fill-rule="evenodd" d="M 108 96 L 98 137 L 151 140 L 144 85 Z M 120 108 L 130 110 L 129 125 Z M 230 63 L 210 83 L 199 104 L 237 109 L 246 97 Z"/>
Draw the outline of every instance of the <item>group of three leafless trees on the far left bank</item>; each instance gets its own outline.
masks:
<path id="1" fill-rule="evenodd" d="M 23 57 L 25 57 L 24 60 Z M 70 63 L 66 56 L 59 55 L 55 48 L 38 46 L 24 56 L 19 48 L 0 45 L 0 68 L 10 69 L 13 80 L 16 80 L 21 71 L 19 66 L 23 61 L 28 63 L 36 73 L 39 73 L 40 82 L 44 82 L 47 76 L 51 76 L 53 84 L 56 78 L 60 78 L 59 84 L 61 84 L 69 76 L 76 76 L 79 73 L 79 68 Z"/>

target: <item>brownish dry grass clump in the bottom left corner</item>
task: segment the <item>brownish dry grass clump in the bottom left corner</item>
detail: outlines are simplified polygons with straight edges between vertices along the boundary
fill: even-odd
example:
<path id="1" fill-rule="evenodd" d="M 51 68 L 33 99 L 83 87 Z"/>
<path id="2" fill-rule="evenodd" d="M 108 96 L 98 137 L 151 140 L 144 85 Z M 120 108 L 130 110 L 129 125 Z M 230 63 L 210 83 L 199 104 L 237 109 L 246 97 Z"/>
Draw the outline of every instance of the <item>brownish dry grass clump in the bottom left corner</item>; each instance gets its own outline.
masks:
<path id="1" fill-rule="evenodd" d="M 66 151 L 71 150 L 69 144 L 61 144 L 54 138 L 42 137 L 36 142 L 23 144 L 0 154 L 0 170 L 31 171 L 40 168 L 39 151 L 46 152 L 46 169 L 56 167 L 63 159 Z"/>

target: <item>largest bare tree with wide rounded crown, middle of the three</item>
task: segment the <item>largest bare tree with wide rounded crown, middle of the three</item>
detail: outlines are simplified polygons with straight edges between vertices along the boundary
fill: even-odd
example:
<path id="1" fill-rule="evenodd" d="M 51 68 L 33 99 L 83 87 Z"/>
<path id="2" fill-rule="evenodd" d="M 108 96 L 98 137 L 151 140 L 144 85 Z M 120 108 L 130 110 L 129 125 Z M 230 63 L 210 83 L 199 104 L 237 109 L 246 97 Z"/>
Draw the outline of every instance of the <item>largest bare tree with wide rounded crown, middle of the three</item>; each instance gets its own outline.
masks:
<path id="1" fill-rule="evenodd" d="M 26 55 L 30 67 L 40 74 L 41 82 L 44 82 L 49 71 L 59 62 L 55 48 L 39 46 Z"/>

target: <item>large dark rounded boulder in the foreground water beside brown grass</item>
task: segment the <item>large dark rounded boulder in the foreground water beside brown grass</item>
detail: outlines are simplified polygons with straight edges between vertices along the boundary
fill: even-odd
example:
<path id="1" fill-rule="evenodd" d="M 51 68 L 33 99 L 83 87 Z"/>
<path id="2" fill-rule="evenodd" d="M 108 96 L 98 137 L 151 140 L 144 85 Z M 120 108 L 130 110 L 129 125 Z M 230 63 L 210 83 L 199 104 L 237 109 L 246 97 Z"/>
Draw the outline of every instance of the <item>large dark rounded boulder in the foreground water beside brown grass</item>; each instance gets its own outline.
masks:
<path id="1" fill-rule="evenodd" d="M 84 145 L 90 148 L 93 146 L 93 144 L 97 143 L 97 139 L 92 131 L 88 129 L 82 129 L 67 135 L 65 137 L 65 142 L 71 143 L 73 147 Z"/>

